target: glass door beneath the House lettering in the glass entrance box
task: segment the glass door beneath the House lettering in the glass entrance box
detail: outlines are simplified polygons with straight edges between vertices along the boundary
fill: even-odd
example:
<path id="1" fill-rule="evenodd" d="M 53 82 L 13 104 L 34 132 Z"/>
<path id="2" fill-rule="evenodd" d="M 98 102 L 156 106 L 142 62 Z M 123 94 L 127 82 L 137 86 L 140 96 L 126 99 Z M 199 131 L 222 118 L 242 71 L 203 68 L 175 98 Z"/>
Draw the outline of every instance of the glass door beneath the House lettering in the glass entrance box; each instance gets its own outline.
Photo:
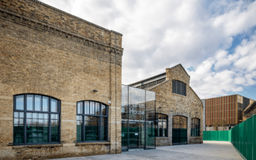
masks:
<path id="1" fill-rule="evenodd" d="M 145 122 L 129 122 L 129 149 L 145 147 Z"/>

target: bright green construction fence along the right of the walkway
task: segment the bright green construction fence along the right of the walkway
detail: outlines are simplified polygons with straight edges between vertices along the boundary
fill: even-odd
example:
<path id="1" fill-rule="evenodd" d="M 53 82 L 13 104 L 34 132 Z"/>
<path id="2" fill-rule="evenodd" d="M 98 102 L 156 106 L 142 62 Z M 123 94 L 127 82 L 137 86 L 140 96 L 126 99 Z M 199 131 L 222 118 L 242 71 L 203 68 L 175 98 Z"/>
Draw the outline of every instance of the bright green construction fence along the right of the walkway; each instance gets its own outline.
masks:
<path id="1" fill-rule="evenodd" d="M 204 141 L 230 141 L 248 160 L 256 160 L 256 115 L 230 131 L 204 131 Z"/>

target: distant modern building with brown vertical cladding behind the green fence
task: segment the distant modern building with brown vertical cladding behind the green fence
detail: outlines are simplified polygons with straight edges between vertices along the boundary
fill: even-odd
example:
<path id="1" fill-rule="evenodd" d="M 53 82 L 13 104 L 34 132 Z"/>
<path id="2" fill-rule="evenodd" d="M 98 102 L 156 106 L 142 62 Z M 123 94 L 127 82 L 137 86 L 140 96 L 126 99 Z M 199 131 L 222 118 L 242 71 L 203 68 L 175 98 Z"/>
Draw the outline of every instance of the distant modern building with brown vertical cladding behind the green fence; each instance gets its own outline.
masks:
<path id="1" fill-rule="evenodd" d="M 205 125 L 211 127 L 214 122 L 220 124 L 225 120 L 228 127 L 243 122 L 243 111 L 254 100 L 241 95 L 227 95 L 212 99 L 204 99 L 205 102 Z"/>

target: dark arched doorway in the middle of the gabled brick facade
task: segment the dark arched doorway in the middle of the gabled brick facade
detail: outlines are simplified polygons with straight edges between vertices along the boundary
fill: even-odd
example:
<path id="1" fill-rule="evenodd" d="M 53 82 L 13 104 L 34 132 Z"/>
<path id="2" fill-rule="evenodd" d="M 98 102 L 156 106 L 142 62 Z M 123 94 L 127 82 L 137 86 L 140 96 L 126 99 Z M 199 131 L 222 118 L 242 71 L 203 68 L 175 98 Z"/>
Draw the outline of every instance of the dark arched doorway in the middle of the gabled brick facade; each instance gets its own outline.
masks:
<path id="1" fill-rule="evenodd" d="M 172 145 L 186 145 L 188 141 L 188 118 L 172 117 Z"/>

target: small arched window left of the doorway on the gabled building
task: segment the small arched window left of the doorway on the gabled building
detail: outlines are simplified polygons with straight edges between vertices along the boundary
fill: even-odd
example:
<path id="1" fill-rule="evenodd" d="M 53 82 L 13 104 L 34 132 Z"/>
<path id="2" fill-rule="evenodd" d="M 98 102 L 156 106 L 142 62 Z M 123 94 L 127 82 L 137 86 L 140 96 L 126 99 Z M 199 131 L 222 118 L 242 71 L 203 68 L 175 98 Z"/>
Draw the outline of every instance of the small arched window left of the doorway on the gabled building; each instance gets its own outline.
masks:
<path id="1" fill-rule="evenodd" d="M 168 137 L 168 116 L 156 113 L 156 136 Z"/>

